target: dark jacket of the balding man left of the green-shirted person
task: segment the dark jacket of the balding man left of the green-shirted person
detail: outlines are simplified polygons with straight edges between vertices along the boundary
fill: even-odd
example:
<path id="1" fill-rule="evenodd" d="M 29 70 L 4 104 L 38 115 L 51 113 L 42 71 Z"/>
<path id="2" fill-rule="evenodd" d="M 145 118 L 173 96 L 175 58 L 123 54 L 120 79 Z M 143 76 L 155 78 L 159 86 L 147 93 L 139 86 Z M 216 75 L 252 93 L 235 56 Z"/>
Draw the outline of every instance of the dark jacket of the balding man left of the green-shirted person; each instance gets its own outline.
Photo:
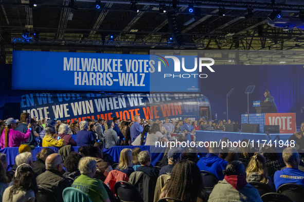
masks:
<path id="1" fill-rule="evenodd" d="M 44 173 L 40 174 L 37 178 L 37 185 L 45 187 L 53 191 L 53 195 L 57 198 L 58 202 L 63 202 L 62 192 L 65 188 L 70 187 L 67 178 L 57 170 L 46 170 Z"/>

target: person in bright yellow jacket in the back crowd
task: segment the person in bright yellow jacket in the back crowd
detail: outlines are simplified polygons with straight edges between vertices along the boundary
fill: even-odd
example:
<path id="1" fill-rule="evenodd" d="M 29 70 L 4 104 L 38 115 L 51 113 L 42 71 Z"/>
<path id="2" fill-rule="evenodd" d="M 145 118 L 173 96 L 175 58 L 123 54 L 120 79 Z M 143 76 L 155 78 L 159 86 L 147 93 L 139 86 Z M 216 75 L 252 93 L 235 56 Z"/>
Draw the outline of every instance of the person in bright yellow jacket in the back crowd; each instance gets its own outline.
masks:
<path id="1" fill-rule="evenodd" d="M 42 147 L 63 147 L 64 145 L 64 140 L 56 134 L 55 127 L 47 126 L 42 139 Z"/>

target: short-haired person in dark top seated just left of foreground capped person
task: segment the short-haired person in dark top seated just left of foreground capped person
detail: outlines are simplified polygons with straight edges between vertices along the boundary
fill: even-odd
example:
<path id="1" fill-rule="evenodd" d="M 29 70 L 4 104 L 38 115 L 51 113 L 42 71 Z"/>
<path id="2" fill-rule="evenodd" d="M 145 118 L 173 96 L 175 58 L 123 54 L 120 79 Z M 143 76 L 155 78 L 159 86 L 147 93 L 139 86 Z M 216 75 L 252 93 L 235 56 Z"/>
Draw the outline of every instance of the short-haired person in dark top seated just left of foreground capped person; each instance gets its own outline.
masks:
<path id="1" fill-rule="evenodd" d="M 158 124 L 156 124 L 156 125 L 158 126 Z M 144 172 L 149 176 L 158 177 L 159 171 L 156 168 L 150 167 L 150 165 L 151 165 L 151 154 L 148 151 L 139 152 L 138 161 L 140 163 L 140 167 L 138 167 L 136 169 L 136 171 Z"/>

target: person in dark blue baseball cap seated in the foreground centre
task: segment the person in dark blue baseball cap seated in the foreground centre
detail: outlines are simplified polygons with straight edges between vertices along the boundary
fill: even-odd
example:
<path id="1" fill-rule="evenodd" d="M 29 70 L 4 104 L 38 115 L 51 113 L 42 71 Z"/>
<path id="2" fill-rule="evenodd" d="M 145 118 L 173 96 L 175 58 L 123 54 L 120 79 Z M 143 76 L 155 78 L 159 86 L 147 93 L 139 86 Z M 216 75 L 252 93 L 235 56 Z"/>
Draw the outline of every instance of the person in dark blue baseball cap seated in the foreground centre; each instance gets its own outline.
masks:
<path id="1" fill-rule="evenodd" d="M 168 151 L 168 165 L 160 169 L 158 176 L 171 175 L 172 169 L 178 161 L 182 159 L 182 151 L 177 148 L 172 148 Z"/>

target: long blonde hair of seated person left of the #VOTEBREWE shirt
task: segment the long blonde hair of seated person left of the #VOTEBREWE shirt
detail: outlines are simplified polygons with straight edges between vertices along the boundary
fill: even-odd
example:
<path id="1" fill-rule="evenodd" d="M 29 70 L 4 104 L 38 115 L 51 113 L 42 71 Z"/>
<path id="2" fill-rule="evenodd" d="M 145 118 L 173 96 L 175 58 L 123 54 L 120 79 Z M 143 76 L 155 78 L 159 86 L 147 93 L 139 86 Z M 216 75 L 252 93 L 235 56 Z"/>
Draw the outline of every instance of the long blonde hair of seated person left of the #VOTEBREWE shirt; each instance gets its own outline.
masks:
<path id="1" fill-rule="evenodd" d="M 251 158 L 246 169 L 247 180 L 250 173 L 253 172 L 258 172 L 261 175 L 260 183 L 264 183 L 264 184 L 268 183 L 266 160 L 264 156 L 262 156 L 261 154 L 255 153 L 255 155 Z"/>

